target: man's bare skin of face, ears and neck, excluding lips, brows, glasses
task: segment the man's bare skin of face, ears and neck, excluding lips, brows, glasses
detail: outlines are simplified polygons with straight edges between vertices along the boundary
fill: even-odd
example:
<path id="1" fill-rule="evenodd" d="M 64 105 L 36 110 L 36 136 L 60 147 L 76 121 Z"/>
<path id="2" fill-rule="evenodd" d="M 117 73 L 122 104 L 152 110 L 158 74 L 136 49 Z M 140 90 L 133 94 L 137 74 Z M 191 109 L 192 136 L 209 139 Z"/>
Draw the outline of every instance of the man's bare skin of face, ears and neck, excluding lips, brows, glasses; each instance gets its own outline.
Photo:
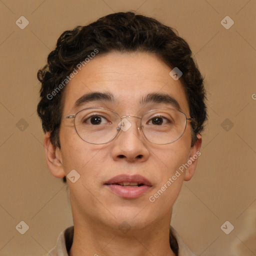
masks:
<path id="1" fill-rule="evenodd" d="M 98 54 L 66 85 L 62 117 L 90 106 L 108 107 L 120 116 L 138 116 L 165 107 L 163 103 L 149 103 L 141 109 L 138 101 L 151 92 L 171 95 L 189 117 L 182 85 L 170 77 L 170 70 L 152 53 Z M 95 101 L 72 109 L 76 99 L 92 91 L 111 92 L 119 102 Z M 191 130 L 187 122 L 184 134 L 175 142 L 153 144 L 144 138 L 134 119 L 129 121 L 132 126 L 106 144 L 83 141 L 74 129 L 73 119 L 61 120 L 61 149 L 51 144 L 49 133 L 45 134 L 44 148 L 52 175 L 61 178 L 72 169 L 80 174 L 75 183 L 67 179 L 74 223 L 70 256 L 174 255 L 168 237 L 172 205 L 183 180 L 193 176 L 197 159 L 154 202 L 148 197 L 199 151 L 201 136 L 197 134 L 197 142 L 190 147 Z M 152 183 L 150 191 L 138 198 L 125 199 L 103 185 L 122 173 L 146 177 Z M 118 228 L 123 221 L 131 227 L 126 233 Z"/>

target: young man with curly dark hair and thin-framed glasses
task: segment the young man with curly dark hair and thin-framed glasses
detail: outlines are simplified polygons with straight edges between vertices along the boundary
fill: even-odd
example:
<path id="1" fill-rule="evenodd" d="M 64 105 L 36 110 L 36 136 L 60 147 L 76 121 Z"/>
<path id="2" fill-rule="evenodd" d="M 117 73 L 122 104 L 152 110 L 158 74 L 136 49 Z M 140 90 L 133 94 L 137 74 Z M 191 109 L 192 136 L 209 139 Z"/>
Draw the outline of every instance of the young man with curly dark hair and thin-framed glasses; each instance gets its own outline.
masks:
<path id="1" fill-rule="evenodd" d="M 206 118 L 187 43 L 153 18 L 109 14 L 63 32 L 37 76 L 47 165 L 74 224 L 49 254 L 194 255 L 170 226 Z"/>

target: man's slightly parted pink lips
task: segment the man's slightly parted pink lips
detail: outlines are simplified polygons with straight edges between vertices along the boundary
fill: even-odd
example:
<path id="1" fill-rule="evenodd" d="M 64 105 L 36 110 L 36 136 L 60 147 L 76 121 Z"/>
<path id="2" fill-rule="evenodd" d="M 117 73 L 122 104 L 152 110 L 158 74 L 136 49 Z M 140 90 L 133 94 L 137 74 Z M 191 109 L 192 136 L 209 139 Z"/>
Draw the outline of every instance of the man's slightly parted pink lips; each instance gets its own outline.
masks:
<path id="1" fill-rule="evenodd" d="M 107 180 L 106 185 L 112 192 L 120 197 L 132 199 L 147 192 L 152 184 L 141 175 L 117 175 Z"/>

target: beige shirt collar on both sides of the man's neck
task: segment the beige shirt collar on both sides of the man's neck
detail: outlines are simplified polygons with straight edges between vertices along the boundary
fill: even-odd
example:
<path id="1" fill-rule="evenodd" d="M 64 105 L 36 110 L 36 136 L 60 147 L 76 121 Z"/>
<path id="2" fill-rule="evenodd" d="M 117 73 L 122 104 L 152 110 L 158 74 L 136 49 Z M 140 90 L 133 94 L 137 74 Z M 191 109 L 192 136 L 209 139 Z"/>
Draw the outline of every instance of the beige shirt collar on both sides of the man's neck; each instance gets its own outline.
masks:
<path id="1" fill-rule="evenodd" d="M 186 246 L 182 238 L 179 236 L 177 231 L 170 226 L 172 234 L 175 236 L 178 243 L 178 256 L 196 256 L 191 250 Z M 73 226 L 67 227 L 64 229 L 57 238 L 56 246 L 49 251 L 47 255 L 50 256 L 68 256 L 67 248 L 69 247 L 73 240 Z M 67 246 L 66 246 L 67 244 Z"/>

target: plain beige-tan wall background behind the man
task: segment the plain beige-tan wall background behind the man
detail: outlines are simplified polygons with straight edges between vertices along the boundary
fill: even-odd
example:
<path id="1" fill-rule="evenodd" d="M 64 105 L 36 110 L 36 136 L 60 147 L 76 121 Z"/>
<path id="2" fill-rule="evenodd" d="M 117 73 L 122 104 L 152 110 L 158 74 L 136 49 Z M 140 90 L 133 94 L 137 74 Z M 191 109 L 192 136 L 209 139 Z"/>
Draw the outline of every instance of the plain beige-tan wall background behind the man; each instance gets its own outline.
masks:
<path id="1" fill-rule="evenodd" d="M 42 255 L 72 224 L 66 187 L 46 166 L 37 70 L 63 30 L 131 9 L 176 28 L 205 75 L 202 154 L 172 225 L 198 255 L 256 255 L 255 0 L 0 0 L 1 256 Z M 24 29 L 15 24 L 21 15 Z M 226 15 L 229 29 L 220 23 Z M 23 235 L 15 229 L 21 220 L 29 226 Z M 226 220 L 229 234 L 220 229 Z"/>

